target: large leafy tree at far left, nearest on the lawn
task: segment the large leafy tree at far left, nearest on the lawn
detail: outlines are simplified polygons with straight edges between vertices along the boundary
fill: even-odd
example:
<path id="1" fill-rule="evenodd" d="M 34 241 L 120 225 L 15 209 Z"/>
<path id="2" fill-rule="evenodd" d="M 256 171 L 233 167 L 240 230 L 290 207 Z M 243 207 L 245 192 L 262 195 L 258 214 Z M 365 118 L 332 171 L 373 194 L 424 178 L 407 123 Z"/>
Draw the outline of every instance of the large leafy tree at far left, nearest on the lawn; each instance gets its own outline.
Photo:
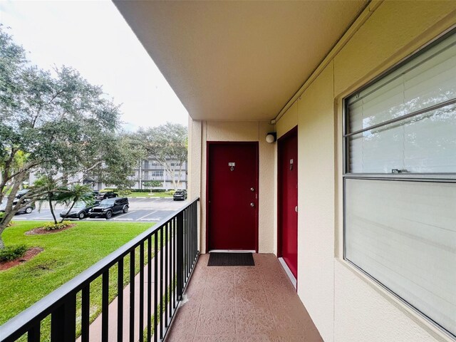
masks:
<path id="1" fill-rule="evenodd" d="M 56 188 L 88 175 L 130 187 L 142 149 L 119 130 L 120 108 L 100 86 L 68 66 L 45 71 L 31 65 L 0 26 L 0 203 L 7 201 L 0 248 L 1 233 L 24 202 L 51 191 L 33 187 L 14 204 L 31 172 Z"/>

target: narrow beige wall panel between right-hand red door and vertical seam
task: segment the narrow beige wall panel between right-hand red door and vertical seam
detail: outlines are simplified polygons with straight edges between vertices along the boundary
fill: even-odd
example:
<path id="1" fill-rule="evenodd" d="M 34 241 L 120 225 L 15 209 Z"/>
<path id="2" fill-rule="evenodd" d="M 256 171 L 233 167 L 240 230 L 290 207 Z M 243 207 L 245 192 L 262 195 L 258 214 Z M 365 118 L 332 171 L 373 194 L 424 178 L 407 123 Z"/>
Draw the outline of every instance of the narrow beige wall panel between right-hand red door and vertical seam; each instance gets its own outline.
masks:
<path id="1" fill-rule="evenodd" d="M 298 99 L 298 294 L 325 341 L 332 341 L 334 107 L 330 63 Z"/>

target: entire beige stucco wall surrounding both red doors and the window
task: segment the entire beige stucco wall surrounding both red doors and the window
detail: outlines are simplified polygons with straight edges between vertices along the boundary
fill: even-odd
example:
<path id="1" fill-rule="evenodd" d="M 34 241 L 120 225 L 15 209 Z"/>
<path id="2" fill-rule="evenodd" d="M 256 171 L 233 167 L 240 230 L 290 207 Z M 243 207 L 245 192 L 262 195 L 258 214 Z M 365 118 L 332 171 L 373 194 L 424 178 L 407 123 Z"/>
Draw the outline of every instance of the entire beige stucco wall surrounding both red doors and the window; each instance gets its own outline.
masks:
<path id="1" fill-rule="evenodd" d="M 343 260 L 341 103 L 455 26 L 456 1 L 373 1 L 360 18 L 349 30 L 351 38 L 324 62 L 275 127 L 279 138 L 298 125 L 298 294 L 324 341 L 454 341 Z M 264 142 L 274 128 L 204 122 L 193 123 L 192 130 L 200 138 L 190 140 L 191 154 L 201 157 L 195 155 L 190 164 L 200 162 L 199 171 L 190 173 L 190 184 L 193 177 L 200 182 L 190 185 L 190 192 L 199 187 L 202 203 L 206 141 L 260 142 L 259 250 L 276 252 L 276 144 Z"/>

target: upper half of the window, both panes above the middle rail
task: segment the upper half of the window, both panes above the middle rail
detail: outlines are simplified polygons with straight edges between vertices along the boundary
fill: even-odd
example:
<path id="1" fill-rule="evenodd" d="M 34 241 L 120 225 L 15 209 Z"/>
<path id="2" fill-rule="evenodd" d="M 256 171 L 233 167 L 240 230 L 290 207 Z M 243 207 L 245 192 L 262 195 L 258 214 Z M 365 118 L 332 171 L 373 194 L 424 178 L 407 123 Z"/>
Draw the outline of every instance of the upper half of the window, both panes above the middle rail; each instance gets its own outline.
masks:
<path id="1" fill-rule="evenodd" d="M 348 172 L 456 172 L 456 35 L 352 95 L 346 111 Z"/>

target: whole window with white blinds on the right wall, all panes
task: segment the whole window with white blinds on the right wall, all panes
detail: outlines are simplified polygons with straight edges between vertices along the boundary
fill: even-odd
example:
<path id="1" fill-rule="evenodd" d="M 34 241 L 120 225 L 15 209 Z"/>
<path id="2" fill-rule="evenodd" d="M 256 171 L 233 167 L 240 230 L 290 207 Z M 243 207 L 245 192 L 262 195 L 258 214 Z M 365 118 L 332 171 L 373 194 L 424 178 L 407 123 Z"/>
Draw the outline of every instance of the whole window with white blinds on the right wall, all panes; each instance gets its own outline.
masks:
<path id="1" fill-rule="evenodd" d="M 456 337 L 456 34 L 345 100 L 344 258 Z"/>

